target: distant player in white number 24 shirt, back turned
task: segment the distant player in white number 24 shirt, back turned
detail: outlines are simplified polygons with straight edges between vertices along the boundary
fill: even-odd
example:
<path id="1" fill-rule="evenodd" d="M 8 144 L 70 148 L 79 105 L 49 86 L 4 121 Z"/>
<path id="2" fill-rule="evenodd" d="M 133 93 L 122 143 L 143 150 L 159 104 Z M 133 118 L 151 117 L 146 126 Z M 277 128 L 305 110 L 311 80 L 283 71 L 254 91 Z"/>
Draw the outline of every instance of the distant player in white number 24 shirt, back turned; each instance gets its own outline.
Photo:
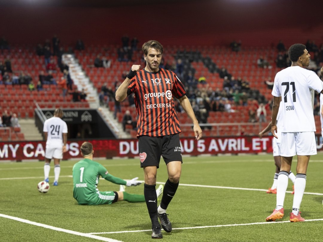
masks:
<path id="1" fill-rule="evenodd" d="M 62 120 L 63 110 L 55 109 L 54 116 L 44 122 L 44 136 L 46 140 L 44 176 L 49 182 L 50 161 L 54 158 L 54 186 L 58 185 L 60 173 L 60 160 L 63 153 L 67 151 L 67 124 Z"/>

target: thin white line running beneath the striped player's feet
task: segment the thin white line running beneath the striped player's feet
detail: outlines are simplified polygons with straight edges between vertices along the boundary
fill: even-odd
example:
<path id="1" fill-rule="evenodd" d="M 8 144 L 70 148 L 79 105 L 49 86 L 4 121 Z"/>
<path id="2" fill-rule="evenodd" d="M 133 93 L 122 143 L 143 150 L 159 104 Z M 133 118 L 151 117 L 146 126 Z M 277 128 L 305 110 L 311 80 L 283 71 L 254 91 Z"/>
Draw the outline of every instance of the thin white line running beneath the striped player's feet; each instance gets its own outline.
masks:
<path id="1" fill-rule="evenodd" d="M 303 222 L 311 222 L 311 221 L 323 221 L 323 218 L 318 219 L 307 219 Z M 196 227 L 183 227 L 183 228 L 172 228 L 175 229 L 194 229 L 194 228 L 217 228 L 217 227 L 234 227 L 234 226 L 246 226 L 246 225 L 259 225 L 259 224 L 278 224 L 278 223 L 290 223 L 290 221 L 278 221 L 278 222 L 258 222 L 258 223 L 249 223 L 249 224 L 224 224 L 224 225 L 212 225 L 212 226 L 196 226 Z M 133 233 L 133 232 L 146 232 L 151 231 L 151 229 L 145 230 L 125 230 L 125 231 L 115 231 L 115 232 L 100 232 L 100 233 L 89 233 L 90 235 L 98 235 L 98 234 L 118 234 L 118 233 Z"/>

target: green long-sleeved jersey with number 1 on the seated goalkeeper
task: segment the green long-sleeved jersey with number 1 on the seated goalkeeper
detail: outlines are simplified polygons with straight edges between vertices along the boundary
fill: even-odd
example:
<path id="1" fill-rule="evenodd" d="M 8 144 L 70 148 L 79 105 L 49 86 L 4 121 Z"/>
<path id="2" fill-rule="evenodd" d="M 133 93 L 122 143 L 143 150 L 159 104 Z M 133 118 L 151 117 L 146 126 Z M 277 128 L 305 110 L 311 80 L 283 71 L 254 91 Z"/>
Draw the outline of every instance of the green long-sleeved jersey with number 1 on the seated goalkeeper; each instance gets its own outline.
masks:
<path id="1" fill-rule="evenodd" d="M 98 162 L 90 159 L 80 160 L 73 166 L 73 197 L 79 204 L 86 204 L 97 199 L 100 176 L 115 184 L 127 184 L 125 180 L 110 175 L 107 169 Z"/>

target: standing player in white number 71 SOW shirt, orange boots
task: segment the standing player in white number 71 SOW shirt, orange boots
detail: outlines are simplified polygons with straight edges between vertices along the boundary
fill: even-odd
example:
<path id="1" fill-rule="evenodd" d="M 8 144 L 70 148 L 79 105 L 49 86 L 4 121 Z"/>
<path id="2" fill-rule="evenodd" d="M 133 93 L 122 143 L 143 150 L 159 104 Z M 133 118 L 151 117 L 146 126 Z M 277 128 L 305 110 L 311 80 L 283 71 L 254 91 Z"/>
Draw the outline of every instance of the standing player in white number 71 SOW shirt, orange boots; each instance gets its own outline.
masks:
<path id="1" fill-rule="evenodd" d="M 308 66 L 310 54 L 306 46 L 294 44 L 288 50 L 292 65 L 276 74 L 272 95 L 271 132 L 275 138 L 277 132 L 276 120 L 282 97 L 282 134 L 280 144 L 281 167 L 277 179 L 276 209 L 266 218 L 275 221 L 284 216 L 284 200 L 288 185 L 288 175 L 293 156 L 297 155 L 295 178 L 295 194 L 293 209 L 290 213 L 291 222 L 304 221 L 300 216 L 299 207 L 306 185 L 306 171 L 309 158 L 316 155 L 315 121 L 313 115 L 314 90 L 322 93 L 323 83 L 315 72 L 303 67 Z"/>

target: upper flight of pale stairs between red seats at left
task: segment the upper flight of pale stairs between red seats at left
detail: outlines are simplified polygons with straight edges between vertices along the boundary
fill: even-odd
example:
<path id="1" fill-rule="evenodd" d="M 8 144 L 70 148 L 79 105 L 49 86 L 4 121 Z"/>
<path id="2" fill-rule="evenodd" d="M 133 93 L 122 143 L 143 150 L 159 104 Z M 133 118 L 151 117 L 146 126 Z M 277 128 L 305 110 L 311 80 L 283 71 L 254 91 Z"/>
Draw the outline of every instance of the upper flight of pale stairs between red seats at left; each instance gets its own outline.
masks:
<path id="1" fill-rule="evenodd" d="M 82 89 L 84 89 L 84 92 L 87 95 L 86 99 L 90 104 L 90 108 L 98 108 L 98 92 L 90 82 L 89 77 L 86 76 L 86 73 L 83 71 L 78 59 L 75 58 L 74 55 L 64 54 L 62 56 L 62 60 L 66 65 L 68 65 L 69 74 L 74 82 L 74 85 L 78 87 L 78 91 L 82 91 Z"/>

